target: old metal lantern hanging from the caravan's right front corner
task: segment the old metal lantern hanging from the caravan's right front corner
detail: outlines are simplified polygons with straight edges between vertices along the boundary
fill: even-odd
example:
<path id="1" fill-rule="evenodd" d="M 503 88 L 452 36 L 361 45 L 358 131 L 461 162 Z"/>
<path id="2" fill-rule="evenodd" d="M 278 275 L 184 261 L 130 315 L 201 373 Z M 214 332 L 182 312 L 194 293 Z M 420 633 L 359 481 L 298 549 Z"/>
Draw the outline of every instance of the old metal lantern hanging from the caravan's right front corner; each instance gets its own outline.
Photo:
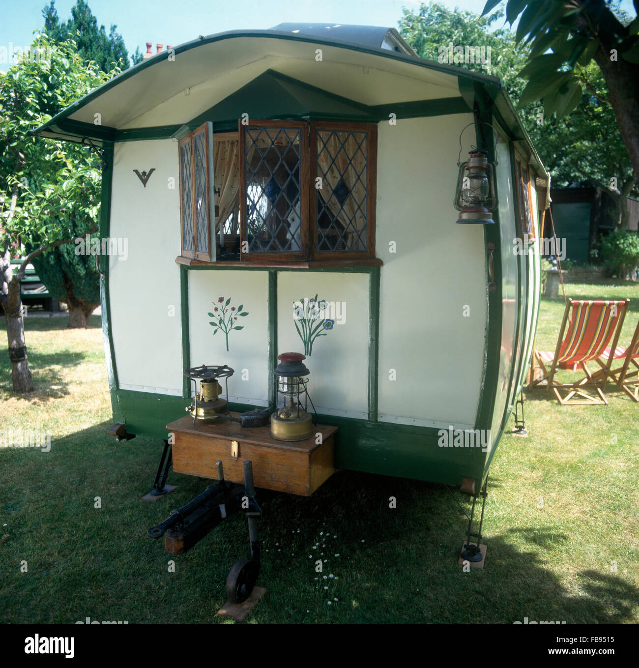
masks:
<path id="1" fill-rule="evenodd" d="M 487 151 L 475 149 L 459 166 L 455 208 L 459 218 L 455 222 L 491 224 L 491 211 L 497 208 L 493 165 L 486 158 Z"/>

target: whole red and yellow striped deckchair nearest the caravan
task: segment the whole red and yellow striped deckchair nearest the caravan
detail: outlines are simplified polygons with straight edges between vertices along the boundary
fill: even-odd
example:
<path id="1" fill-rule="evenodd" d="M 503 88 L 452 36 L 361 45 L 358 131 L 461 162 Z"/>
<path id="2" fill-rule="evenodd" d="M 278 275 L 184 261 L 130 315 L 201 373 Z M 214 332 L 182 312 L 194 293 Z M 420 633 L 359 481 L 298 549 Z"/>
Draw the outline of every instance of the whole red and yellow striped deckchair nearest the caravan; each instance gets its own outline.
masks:
<path id="1" fill-rule="evenodd" d="M 595 375 L 590 372 L 586 363 L 598 360 L 608 347 L 616 350 L 629 301 L 630 299 L 624 301 L 568 299 L 555 352 L 536 351 L 537 359 L 544 370 L 544 378 L 536 384 L 548 381 L 548 388 L 555 393 L 562 405 L 578 403 L 608 405 L 603 390 L 610 374 L 612 357 Z M 578 367 L 584 371 L 582 379 L 570 383 L 558 383 L 555 380 L 558 368 L 576 371 Z M 586 392 L 586 389 L 594 389 L 597 396 Z M 562 397 L 562 391 L 568 392 L 565 397 Z M 582 399 L 573 399 L 574 396 Z"/>

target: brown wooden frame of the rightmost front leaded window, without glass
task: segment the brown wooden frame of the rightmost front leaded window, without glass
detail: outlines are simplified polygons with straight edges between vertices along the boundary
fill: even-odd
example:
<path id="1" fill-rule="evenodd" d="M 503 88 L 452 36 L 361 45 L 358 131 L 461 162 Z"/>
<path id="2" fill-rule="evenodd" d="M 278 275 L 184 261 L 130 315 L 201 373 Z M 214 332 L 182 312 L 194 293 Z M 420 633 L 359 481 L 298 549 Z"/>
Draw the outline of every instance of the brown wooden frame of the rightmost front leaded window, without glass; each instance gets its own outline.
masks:
<path id="1" fill-rule="evenodd" d="M 317 132 L 330 130 L 331 132 L 366 132 L 366 174 L 367 174 L 367 201 L 366 201 L 366 248 L 362 251 L 320 251 L 317 245 L 317 196 L 318 192 L 312 188 L 309 201 L 308 226 L 310 228 L 310 253 L 316 260 L 357 260 L 375 258 L 375 203 L 377 202 L 377 125 L 372 123 L 339 123 L 332 121 L 310 122 L 310 160 L 308 168 L 310 183 L 314 184 L 317 178 Z"/>

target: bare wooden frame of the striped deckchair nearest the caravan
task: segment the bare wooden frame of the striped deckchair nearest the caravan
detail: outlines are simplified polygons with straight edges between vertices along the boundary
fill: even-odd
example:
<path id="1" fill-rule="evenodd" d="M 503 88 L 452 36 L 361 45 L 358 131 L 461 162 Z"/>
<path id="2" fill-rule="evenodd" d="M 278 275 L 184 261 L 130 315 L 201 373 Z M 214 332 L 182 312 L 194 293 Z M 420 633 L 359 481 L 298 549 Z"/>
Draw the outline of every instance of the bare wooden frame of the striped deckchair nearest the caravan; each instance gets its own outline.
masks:
<path id="1" fill-rule="evenodd" d="M 552 359 L 552 365 L 550 367 L 550 371 L 546 368 L 546 364 L 544 363 L 544 360 L 542 359 L 540 353 L 536 351 L 537 360 L 540 363 L 542 369 L 544 370 L 544 379 L 537 381 L 536 384 L 542 383 L 544 380 L 547 380 L 548 389 L 554 392 L 559 403 L 561 403 L 564 406 L 579 405 L 579 404 L 608 405 L 608 399 L 606 399 L 606 395 L 604 395 L 604 389 L 606 387 L 606 381 L 608 381 L 608 376 L 610 375 L 610 367 L 612 365 L 612 358 L 614 357 L 614 353 L 611 353 L 610 357 L 608 358 L 608 363 L 606 365 L 604 365 L 602 361 L 600 361 L 599 359 L 597 360 L 598 363 L 603 368 L 594 374 L 590 371 L 590 369 L 588 369 L 586 361 L 581 361 L 577 362 L 578 365 L 582 367 L 582 371 L 584 371 L 585 374 L 581 380 L 573 381 L 572 383 L 557 383 L 555 381 L 555 374 L 557 373 L 559 364 L 558 362 L 559 353 L 562 347 L 562 343 L 566 338 L 566 325 L 568 324 L 568 318 L 570 316 L 570 312 L 572 311 L 572 305 L 575 301 L 580 301 L 580 300 L 568 299 L 568 302 L 566 303 L 566 309 L 564 310 L 564 319 L 562 320 L 562 326 L 560 327 L 559 337 L 557 339 L 557 346 L 555 348 L 555 354 Z M 625 299 L 618 304 L 621 313 L 619 313 L 618 315 L 617 323 L 615 325 L 615 330 L 612 333 L 611 351 L 616 350 L 617 343 L 619 341 L 619 335 L 624 325 L 624 318 L 626 317 L 626 311 L 628 310 L 628 303 L 630 303 L 630 299 Z M 586 389 L 590 388 L 596 391 L 598 397 L 593 396 L 592 394 L 586 392 Z M 565 397 L 562 397 L 560 390 L 568 390 L 568 394 Z M 582 399 L 573 399 L 572 397 L 574 397 L 575 395 L 578 397 L 582 397 Z"/>

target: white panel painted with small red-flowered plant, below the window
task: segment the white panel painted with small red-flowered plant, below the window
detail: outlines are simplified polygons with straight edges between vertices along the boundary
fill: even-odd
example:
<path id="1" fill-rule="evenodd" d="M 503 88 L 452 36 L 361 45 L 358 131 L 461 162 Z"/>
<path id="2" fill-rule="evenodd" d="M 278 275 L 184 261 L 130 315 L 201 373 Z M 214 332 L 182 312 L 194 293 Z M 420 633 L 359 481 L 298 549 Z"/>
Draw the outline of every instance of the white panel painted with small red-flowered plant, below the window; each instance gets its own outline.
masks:
<path id="1" fill-rule="evenodd" d="M 230 400 L 266 406 L 269 384 L 266 347 L 268 273 L 217 269 L 190 271 L 188 297 L 191 366 L 226 364 L 232 367 L 235 373 L 228 379 Z M 222 302 L 220 297 L 224 297 Z M 231 301 L 226 305 L 228 299 Z M 210 325 L 211 322 L 218 323 L 221 309 L 225 309 L 226 323 L 231 317 L 237 318 L 232 327 L 242 327 L 228 331 L 228 351 L 224 331 Z M 225 328 L 228 329 L 228 325 Z"/>

